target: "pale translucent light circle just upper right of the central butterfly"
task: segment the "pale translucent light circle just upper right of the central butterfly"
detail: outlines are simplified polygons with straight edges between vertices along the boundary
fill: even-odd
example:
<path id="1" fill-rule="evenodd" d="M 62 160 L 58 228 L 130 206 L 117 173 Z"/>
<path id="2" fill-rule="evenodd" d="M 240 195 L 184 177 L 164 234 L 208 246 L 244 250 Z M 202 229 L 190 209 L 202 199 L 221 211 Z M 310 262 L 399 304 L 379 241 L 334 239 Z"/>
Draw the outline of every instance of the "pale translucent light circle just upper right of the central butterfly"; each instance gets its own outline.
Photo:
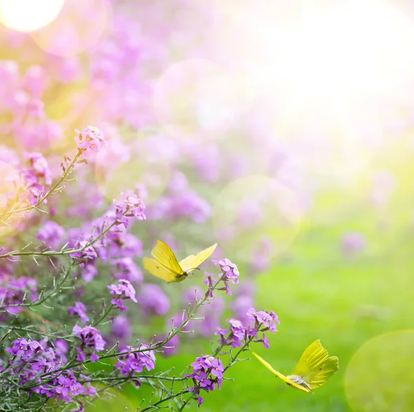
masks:
<path id="1" fill-rule="evenodd" d="M 216 197 L 213 227 L 226 255 L 252 262 L 265 241 L 271 261 L 290 248 L 302 214 L 295 191 L 270 177 L 250 175 L 230 182 Z"/>

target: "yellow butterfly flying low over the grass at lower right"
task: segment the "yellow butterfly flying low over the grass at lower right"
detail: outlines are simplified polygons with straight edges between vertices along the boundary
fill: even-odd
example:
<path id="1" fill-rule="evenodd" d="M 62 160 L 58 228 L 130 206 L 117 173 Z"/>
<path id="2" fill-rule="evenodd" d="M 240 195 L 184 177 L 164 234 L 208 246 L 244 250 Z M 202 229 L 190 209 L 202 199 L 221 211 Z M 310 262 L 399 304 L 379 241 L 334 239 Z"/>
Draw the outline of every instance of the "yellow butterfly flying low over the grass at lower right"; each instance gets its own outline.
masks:
<path id="1" fill-rule="evenodd" d="M 293 371 L 292 375 L 288 376 L 275 371 L 266 360 L 262 359 L 256 353 L 253 352 L 253 355 L 269 371 L 275 373 L 277 377 L 280 377 L 289 386 L 293 386 L 293 388 L 307 393 L 313 393 L 312 389 L 322 386 L 328 380 L 328 377 L 339 369 L 338 358 L 336 356 L 328 357 L 328 352 L 324 349 L 319 339 L 315 340 L 315 342 L 305 349 L 296 365 L 295 371 Z"/>

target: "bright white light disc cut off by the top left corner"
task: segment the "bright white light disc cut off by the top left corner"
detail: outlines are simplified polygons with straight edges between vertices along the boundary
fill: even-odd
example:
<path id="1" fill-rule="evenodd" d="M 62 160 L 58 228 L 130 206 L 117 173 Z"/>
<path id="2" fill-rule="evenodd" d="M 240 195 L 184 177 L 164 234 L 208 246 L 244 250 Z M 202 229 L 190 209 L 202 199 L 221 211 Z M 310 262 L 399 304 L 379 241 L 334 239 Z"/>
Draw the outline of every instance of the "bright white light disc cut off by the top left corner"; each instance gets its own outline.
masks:
<path id="1" fill-rule="evenodd" d="M 0 0 L 0 21 L 19 32 L 31 32 L 56 19 L 64 0 Z"/>

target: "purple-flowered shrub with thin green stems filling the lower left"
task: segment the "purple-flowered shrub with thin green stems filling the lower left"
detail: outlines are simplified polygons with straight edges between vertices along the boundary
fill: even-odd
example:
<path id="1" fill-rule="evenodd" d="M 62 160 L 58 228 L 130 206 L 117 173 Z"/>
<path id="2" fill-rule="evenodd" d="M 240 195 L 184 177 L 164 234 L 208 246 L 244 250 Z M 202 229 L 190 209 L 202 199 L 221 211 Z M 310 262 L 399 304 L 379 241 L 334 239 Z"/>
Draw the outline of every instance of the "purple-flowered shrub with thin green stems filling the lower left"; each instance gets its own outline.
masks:
<path id="1" fill-rule="evenodd" d="M 27 185 L 19 188 L 14 197 L 8 196 L 10 202 L 1 210 L 5 221 L 19 213 L 30 216 L 33 222 L 29 224 L 35 224 L 36 209 L 41 210 L 49 200 L 55 201 L 68 175 L 78 164 L 85 163 L 83 158 L 88 154 L 99 152 L 106 139 L 101 130 L 88 127 L 77 131 L 75 141 L 77 153 L 72 159 L 65 157 L 57 183 L 48 181 L 49 188 L 39 188 L 36 199 L 32 186 Z M 39 153 L 28 158 L 31 168 L 24 170 L 24 175 L 31 175 L 33 182 L 46 180 L 51 174 L 46 160 Z M 55 202 L 55 205 L 58 204 Z M 248 308 L 244 315 L 250 322 L 229 319 L 228 330 L 217 329 L 220 319 L 214 308 L 222 305 L 222 297 L 217 293 L 224 291 L 231 295 L 230 285 L 239 283 L 237 266 L 229 259 L 213 260 L 220 273 L 206 272 L 204 291 L 197 287 L 185 293 L 188 307 L 175 317 L 161 340 L 144 343 L 142 337 L 131 336 L 128 317 L 120 311 L 140 312 L 144 317 L 165 315 L 170 310 L 170 300 L 161 286 L 143 284 L 143 274 L 133 259 L 141 253 L 141 243 L 126 230 L 133 221 L 141 224 L 146 219 L 143 200 L 136 193 L 122 193 L 121 200 L 114 205 L 102 217 L 79 228 L 63 228 L 53 220 L 40 220 L 35 235 L 41 242 L 39 246 L 31 248 L 29 244 L 9 251 L 3 249 L 0 255 L 3 324 L 0 329 L 4 355 L 0 393 L 2 402 L 10 405 L 10 410 L 34 411 L 52 406 L 55 401 L 75 404 L 74 410 L 82 411 L 84 402 L 93 402 L 105 386 L 110 388 L 128 382 L 138 387 L 151 384 L 161 390 L 161 398 L 157 402 L 150 401 L 142 410 L 168 404 L 174 398 L 182 410 L 193 401 L 201 405 L 203 393 L 220 389 L 226 370 L 239 360 L 250 344 L 262 342 L 268 347 L 265 332 L 275 332 L 275 322 L 279 322 L 272 311 Z M 28 215 L 29 212 L 32 213 Z M 41 284 L 34 277 L 17 276 L 19 265 L 30 265 L 30 261 L 26 261 L 30 258 L 39 268 L 52 272 L 49 278 L 40 277 Z M 110 271 L 104 270 L 104 265 L 109 266 Z M 102 277 L 100 282 L 99 277 Z M 90 284 L 99 286 L 102 281 L 109 283 L 106 293 L 93 285 L 89 288 Z M 88 293 L 96 290 L 97 297 L 88 298 L 86 288 Z M 103 304 L 101 313 L 97 311 L 99 299 Z M 204 318 L 196 317 L 200 314 Z M 108 321 L 112 331 L 108 331 Z M 204 328 L 197 327 L 197 322 L 204 324 Z M 193 327 L 201 335 L 219 336 L 213 353 L 197 357 L 189 366 L 193 371 L 181 376 L 155 372 L 157 357 L 164 352 L 170 354 L 171 349 L 179 346 L 179 336 Z M 132 339 L 135 343 L 128 343 Z M 97 361 L 109 368 L 97 372 L 88 367 Z M 95 382 L 99 382 L 99 387 Z M 168 382 L 171 386 L 166 394 L 162 390 Z"/>

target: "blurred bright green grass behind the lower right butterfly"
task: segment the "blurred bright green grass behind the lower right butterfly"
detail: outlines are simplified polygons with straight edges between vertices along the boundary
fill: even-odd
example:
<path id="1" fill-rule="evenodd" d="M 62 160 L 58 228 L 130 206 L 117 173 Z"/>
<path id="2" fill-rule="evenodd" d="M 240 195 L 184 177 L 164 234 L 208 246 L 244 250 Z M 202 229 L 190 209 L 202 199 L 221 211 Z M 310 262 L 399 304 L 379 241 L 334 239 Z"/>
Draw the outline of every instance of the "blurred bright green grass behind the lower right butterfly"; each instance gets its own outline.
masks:
<path id="1" fill-rule="evenodd" d="M 281 321 L 279 332 L 270 336 L 270 349 L 257 344 L 255 351 L 275 369 L 290 373 L 306 346 L 321 339 L 328 352 L 339 357 L 339 371 L 315 395 L 308 395 L 277 380 L 255 359 L 239 362 L 227 373 L 234 382 L 225 381 L 221 391 L 205 393 L 200 410 L 351 411 L 344 379 L 355 351 L 382 333 L 414 328 L 414 170 L 409 154 L 400 152 L 393 159 L 388 168 L 400 179 L 386 208 L 373 210 L 366 202 L 364 184 L 352 190 L 331 188 L 317 197 L 288 253 L 273 262 L 267 273 L 255 277 L 256 308 L 273 309 Z M 339 239 L 347 230 L 357 230 L 367 239 L 364 253 L 352 259 L 345 259 L 339 248 Z M 240 282 L 243 277 L 242 270 Z M 175 366 L 181 371 L 209 349 L 208 341 L 188 340 L 179 355 L 159 357 L 157 370 Z M 384 357 L 392 355 L 392 348 L 384 347 Z M 135 411 L 142 398 L 150 398 L 148 387 L 129 386 L 122 395 L 98 402 L 95 410 L 104 406 L 108 411 Z M 384 411 L 414 411 L 411 406 L 388 406 Z M 195 405 L 188 408 L 196 409 Z"/>

